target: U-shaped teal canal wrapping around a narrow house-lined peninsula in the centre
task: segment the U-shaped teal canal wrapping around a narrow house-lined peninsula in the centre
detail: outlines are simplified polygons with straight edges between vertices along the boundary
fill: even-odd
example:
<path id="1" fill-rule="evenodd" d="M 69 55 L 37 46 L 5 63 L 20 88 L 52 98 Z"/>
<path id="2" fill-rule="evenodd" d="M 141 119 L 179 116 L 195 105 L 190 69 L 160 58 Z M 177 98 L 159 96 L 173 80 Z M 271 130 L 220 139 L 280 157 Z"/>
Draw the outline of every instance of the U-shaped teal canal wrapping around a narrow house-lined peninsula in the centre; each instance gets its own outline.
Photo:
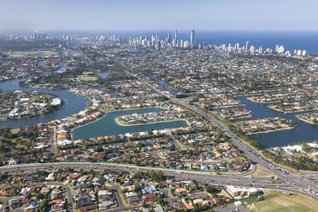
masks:
<path id="1" fill-rule="evenodd" d="M 97 136 L 111 136 L 114 134 L 126 134 L 139 131 L 151 131 L 153 129 L 172 129 L 181 126 L 188 126 L 187 122 L 184 120 L 158 122 L 151 124 L 137 124 L 131 126 L 122 126 L 116 122 L 116 117 L 122 115 L 159 111 L 163 111 L 163 109 L 159 107 L 151 107 L 107 112 L 107 114 L 105 114 L 105 116 L 101 119 L 73 129 L 72 136 L 73 139 L 89 139 Z"/>

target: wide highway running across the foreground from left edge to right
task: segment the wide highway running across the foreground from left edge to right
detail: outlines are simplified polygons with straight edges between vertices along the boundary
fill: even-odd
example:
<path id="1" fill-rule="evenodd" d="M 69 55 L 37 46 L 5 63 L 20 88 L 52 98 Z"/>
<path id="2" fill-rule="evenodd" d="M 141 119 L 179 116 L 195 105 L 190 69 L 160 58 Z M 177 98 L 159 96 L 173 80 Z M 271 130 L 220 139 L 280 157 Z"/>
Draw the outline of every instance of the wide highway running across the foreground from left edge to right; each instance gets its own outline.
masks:
<path id="1" fill-rule="evenodd" d="M 136 167 L 135 165 L 120 165 L 120 164 L 109 164 L 109 163 L 38 163 L 38 164 L 21 164 L 12 166 L 0 167 L 0 172 L 32 172 L 34 170 L 58 170 L 66 167 L 73 168 L 75 170 L 105 170 L 111 169 L 118 172 L 137 172 L 139 170 L 161 170 L 167 176 L 173 176 L 175 179 L 181 179 L 185 181 L 191 181 L 195 179 L 196 182 L 204 182 L 206 184 L 216 184 L 216 185 L 234 185 L 242 187 L 257 187 L 264 189 L 276 189 L 285 192 L 293 192 L 297 194 L 302 194 L 307 197 L 311 197 L 318 201 L 318 196 L 311 194 L 310 192 L 304 191 L 302 189 L 302 183 L 306 182 L 306 179 L 300 180 L 297 184 L 293 182 L 285 181 L 279 184 L 269 184 L 269 179 L 265 177 L 254 177 L 249 179 L 248 177 L 239 176 L 225 176 L 225 175 L 211 175 L 211 173 L 201 173 L 194 171 L 179 171 L 179 170 L 165 170 L 153 167 Z M 298 188 L 298 189 L 297 189 Z"/>

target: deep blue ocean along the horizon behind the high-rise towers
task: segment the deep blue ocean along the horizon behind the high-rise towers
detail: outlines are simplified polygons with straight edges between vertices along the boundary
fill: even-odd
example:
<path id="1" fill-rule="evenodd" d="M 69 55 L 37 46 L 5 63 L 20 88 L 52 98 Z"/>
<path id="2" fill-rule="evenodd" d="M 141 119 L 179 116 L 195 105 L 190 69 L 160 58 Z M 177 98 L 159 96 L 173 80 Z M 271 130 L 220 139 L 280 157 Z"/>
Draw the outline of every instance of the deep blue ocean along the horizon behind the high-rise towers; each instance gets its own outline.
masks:
<path id="1" fill-rule="evenodd" d="M 64 32 L 66 33 L 66 32 Z M 158 30 L 160 39 L 165 39 L 167 34 L 170 33 L 171 40 L 175 37 L 175 30 Z M 125 37 L 142 37 L 147 36 L 151 38 L 151 35 L 155 35 L 153 31 L 141 31 L 141 32 L 71 32 L 69 35 L 122 35 Z M 178 40 L 190 40 L 190 30 L 178 30 Z M 259 46 L 263 46 L 264 49 L 271 47 L 275 49 L 276 45 L 283 45 L 285 51 L 293 52 L 294 49 L 306 50 L 307 54 L 318 55 L 318 31 L 195 31 L 196 44 L 212 44 L 221 45 L 230 43 L 234 46 L 236 43 L 240 44 L 240 47 L 245 45 L 245 42 L 249 41 L 249 45 L 254 45 L 257 49 Z"/>

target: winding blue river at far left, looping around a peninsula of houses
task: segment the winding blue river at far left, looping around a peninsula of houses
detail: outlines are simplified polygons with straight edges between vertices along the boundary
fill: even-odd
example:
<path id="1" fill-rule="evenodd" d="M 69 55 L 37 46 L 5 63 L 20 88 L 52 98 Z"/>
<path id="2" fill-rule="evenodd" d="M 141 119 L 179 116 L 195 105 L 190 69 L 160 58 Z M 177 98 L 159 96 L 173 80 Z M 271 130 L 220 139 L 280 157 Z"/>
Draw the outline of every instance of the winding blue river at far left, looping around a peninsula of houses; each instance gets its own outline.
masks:
<path id="1" fill-rule="evenodd" d="M 46 72 L 42 74 L 54 74 L 57 71 L 63 71 L 68 69 L 69 66 L 61 66 L 56 71 Z M 86 107 L 86 99 L 80 95 L 75 95 L 73 93 L 67 92 L 67 90 L 51 90 L 45 88 L 30 88 L 30 87 L 23 87 L 19 86 L 20 81 L 25 81 L 32 76 L 28 76 L 25 78 L 18 78 L 12 79 L 8 81 L 3 81 L 0 83 L 1 90 L 25 90 L 25 91 L 38 91 L 38 92 L 45 92 L 45 93 L 52 93 L 57 95 L 61 100 L 64 101 L 64 106 L 61 109 L 57 110 L 56 112 L 51 112 L 48 114 L 44 114 L 42 116 L 31 117 L 26 119 L 13 119 L 6 122 L 0 122 L 0 128 L 2 127 L 9 127 L 9 128 L 18 128 L 20 126 L 29 126 L 33 124 L 38 124 L 40 122 L 50 122 L 54 119 L 62 119 L 70 114 L 78 113 L 79 111 L 83 110 Z"/>

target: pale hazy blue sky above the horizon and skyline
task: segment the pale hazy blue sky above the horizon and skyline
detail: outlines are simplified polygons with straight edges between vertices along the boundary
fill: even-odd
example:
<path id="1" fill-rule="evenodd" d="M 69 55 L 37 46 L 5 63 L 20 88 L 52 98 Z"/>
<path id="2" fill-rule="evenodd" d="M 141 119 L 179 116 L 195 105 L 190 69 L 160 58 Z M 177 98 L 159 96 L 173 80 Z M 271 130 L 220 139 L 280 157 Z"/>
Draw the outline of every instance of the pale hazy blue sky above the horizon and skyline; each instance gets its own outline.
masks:
<path id="1" fill-rule="evenodd" d="M 0 32 L 318 31 L 318 0 L 0 0 Z"/>

